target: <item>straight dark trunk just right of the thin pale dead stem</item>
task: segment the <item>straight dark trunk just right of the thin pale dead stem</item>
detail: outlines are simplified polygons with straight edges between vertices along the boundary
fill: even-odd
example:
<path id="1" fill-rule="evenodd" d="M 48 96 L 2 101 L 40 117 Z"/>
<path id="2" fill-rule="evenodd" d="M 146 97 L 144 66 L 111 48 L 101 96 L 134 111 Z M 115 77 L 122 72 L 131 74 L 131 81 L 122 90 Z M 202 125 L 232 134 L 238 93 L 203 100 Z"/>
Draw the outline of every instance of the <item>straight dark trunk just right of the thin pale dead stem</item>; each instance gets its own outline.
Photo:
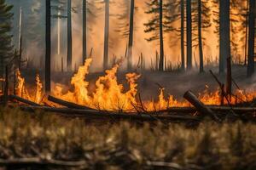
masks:
<path id="1" fill-rule="evenodd" d="M 67 71 L 72 71 L 72 1 L 67 0 Z"/>

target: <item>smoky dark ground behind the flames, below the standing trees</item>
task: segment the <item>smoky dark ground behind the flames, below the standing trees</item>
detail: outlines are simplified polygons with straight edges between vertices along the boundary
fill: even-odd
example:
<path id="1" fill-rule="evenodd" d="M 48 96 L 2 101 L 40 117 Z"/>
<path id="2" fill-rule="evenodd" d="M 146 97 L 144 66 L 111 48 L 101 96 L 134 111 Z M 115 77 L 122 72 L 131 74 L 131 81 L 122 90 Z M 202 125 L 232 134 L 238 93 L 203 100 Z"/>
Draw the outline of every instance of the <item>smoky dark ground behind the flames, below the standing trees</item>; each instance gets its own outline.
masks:
<path id="1" fill-rule="evenodd" d="M 221 82 L 226 82 L 225 75 L 218 74 L 217 67 L 206 67 L 204 73 L 198 71 L 189 72 L 158 72 L 158 71 L 143 71 L 137 72 L 141 77 L 138 79 L 138 92 L 141 94 L 143 99 L 157 99 L 160 94 L 160 87 L 165 88 L 165 94 L 172 94 L 176 99 L 181 99 L 183 94 L 187 90 L 192 90 L 195 94 L 202 93 L 204 90 L 210 92 L 218 89 L 218 83 L 214 80 L 209 70 L 212 70 Z M 21 71 L 23 77 L 26 78 L 28 84 L 34 84 L 34 78 L 36 75 L 35 70 L 24 70 Z M 40 76 L 44 80 L 44 72 L 39 72 Z M 92 72 L 86 77 L 86 81 L 90 82 L 90 90 L 94 90 L 94 84 L 96 79 L 103 76 L 104 72 Z M 243 65 L 232 66 L 232 77 L 238 84 L 238 86 L 246 90 L 246 92 L 256 90 L 256 77 L 247 79 L 247 67 Z M 73 73 L 67 72 L 54 72 L 52 81 L 55 83 L 61 83 L 70 87 L 70 80 Z M 125 89 L 128 88 L 128 83 L 125 80 L 125 72 L 118 72 L 118 82 L 122 83 Z M 236 86 L 233 86 L 236 89 Z"/>

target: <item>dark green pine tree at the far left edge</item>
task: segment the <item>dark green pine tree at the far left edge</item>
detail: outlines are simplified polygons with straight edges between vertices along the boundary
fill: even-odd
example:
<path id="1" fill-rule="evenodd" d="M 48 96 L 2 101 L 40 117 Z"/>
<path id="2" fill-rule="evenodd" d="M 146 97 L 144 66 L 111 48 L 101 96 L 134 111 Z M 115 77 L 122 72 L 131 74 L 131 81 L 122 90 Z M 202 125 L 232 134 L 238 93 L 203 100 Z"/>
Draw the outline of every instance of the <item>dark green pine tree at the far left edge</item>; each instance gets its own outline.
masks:
<path id="1" fill-rule="evenodd" d="M 9 59 L 14 56 L 11 31 L 12 5 L 8 5 L 5 0 L 0 0 L 0 74 L 3 75 L 5 66 Z"/>

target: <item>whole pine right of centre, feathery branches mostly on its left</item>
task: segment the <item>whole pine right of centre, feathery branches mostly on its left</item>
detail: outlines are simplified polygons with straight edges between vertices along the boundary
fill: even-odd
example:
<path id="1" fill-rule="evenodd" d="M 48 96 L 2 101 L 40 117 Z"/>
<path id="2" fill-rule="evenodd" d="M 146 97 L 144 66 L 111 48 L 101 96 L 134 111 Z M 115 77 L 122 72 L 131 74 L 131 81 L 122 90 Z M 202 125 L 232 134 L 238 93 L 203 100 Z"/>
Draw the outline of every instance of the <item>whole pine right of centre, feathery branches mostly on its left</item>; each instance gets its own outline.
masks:
<path id="1" fill-rule="evenodd" d="M 144 24 L 146 26 L 145 32 L 154 31 L 154 36 L 147 39 L 148 42 L 159 40 L 160 41 L 160 62 L 159 62 L 159 71 L 164 71 L 164 36 L 163 32 L 164 25 L 163 22 L 163 13 L 166 11 L 164 8 L 162 0 L 152 0 L 151 3 L 147 3 L 149 10 L 146 11 L 146 14 L 153 14 L 152 20 L 149 20 L 148 23 Z"/>

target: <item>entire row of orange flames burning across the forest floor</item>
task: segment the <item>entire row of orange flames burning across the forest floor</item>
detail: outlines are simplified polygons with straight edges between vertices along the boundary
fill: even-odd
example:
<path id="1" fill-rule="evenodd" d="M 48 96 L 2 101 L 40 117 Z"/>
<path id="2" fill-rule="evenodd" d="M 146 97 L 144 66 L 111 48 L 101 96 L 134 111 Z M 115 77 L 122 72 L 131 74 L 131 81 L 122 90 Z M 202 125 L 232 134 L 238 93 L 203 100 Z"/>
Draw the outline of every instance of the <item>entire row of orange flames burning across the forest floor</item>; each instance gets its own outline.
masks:
<path id="1" fill-rule="evenodd" d="M 185 100 L 177 100 L 173 95 L 165 97 L 165 89 L 160 88 L 158 100 L 142 101 L 137 90 L 137 80 L 140 77 L 137 73 L 127 73 L 125 75 L 129 89 L 125 91 L 123 84 L 117 80 L 117 71 L 119 65 L 114 65 L 112 69 L 107 70 L 105 76 L 98 77 L 95 83 L 94 92 L 90 92 L 89 82 L 86 76 L 89 74 L 89 68 L 92 59 L 86 59 L 83 66 L 79 67 L 77 73 L 71 79 L 73 90 L 64 92 L 66 88 L 63 84 L 56 84 L 52 94 L 58 98 L 79 105 L 84 105 L 92 109 L 101 111 L 163 111 L 171 107 L 190 106 Z M 21 77 L 20 71 L 17 71 L 18 85 L 16 94 L 24 99 L 31 100 L 40 104 L 42 102 L 43 85 L 40 78 L 36 77 L 36 88 L 33 94 L 29 94 L 25 86 L 25 79 Z M 220 90 L 211 93 L 208 89 L 198 95 L 199 99 L 205 105 L 221 105 L 248 102 L 254 99 L 255 93 L 245 94 L 242 90 L 236 90 L 228 100 L 221 96 Z M 221 101 L 223 99 L 223 102 Z"/>

